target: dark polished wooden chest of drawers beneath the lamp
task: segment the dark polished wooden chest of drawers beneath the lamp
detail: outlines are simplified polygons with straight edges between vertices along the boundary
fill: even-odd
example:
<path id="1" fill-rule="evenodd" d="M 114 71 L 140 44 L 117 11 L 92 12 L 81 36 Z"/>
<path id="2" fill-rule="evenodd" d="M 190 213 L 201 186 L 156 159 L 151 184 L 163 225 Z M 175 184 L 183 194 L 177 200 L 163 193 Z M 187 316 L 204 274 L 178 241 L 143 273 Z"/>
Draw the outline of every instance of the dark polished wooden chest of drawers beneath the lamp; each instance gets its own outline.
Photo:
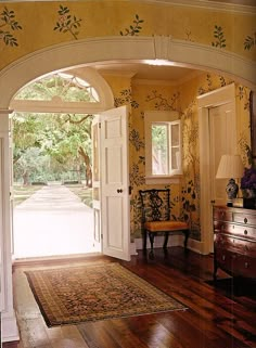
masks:
<path id="1" fill-rule="evenodd" d="M 256 210 L 215 206 L 214 278 L 218 268 L 233 276 L 256 279 Z"/>

